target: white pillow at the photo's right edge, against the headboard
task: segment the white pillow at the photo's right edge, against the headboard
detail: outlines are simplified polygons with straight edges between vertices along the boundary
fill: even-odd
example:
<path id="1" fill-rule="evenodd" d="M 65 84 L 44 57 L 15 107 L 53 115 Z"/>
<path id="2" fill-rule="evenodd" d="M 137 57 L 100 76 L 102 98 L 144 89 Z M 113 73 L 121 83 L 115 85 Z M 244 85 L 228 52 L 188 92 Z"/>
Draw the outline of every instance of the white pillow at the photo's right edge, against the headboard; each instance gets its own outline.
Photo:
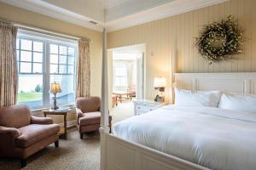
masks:
<path id="1" fill-rule="evenodd" d="M 222 94 L 218 107 L 256 113 L 256 95 Z"/>

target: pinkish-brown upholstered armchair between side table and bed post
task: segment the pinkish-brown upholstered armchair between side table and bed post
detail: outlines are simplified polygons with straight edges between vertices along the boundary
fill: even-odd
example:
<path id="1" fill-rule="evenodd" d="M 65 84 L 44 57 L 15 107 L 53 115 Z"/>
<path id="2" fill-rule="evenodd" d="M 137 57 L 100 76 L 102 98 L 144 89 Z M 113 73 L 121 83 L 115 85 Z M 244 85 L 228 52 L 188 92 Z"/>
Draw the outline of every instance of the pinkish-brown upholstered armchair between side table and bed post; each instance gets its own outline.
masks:
<path id="1" fill-rule="evenodd" d="M 97 131 L 101 125 L 101 99 L 99 97 L 81 97 L 76 100 L 77 127 L 80 139 L 83 133 Z M 111 129 L 112 116 L 109 116 Z"/>

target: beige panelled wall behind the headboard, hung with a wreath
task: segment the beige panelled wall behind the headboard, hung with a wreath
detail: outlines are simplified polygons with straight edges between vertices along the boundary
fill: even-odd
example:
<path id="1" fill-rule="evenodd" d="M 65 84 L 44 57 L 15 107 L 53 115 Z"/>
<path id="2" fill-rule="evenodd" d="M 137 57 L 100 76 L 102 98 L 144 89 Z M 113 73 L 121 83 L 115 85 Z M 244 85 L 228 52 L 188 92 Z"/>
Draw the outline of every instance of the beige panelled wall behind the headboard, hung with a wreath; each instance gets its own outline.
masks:
<path id="1" fill-rule="evenodd" d="M 230 0 L 185 14 L 155 20 L 108 33 L 108 48 L 146 43 L 146 94 L 153 99 L 154 77 L 168 78 L 172 82 L 172 59 L 176 59 L 177 72 L 238 72 L 256 71 L 256 1 Z M 238 19 L 245 30 L 245 51 L 238 59 L 208 65 L 195 48 L 203 26 L 222 20 L 228 15 Z"/>

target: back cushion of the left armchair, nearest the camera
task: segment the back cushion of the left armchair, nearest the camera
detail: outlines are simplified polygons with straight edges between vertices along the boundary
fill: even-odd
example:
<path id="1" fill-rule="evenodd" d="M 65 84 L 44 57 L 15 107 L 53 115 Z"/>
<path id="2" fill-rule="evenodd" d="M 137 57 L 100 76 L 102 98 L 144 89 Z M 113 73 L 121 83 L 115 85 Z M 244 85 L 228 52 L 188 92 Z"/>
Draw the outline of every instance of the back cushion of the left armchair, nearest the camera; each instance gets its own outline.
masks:
<path id="1" fill-rule="evenodd" d="M 31 112 L 26 105 L 11 105 L 0 109 L 0 126 L 24 127 L 31 122 Z"/>

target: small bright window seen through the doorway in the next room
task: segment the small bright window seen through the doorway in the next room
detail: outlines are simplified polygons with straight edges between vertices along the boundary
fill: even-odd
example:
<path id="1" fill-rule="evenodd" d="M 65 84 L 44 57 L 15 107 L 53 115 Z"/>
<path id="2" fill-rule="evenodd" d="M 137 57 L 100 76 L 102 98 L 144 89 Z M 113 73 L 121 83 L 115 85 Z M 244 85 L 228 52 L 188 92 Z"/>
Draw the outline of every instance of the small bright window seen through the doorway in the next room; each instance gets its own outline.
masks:
<path id="1" fill-rule="evenodd" d="M 124 87 L 127 86 L 127 68 L 116 67 L 114 71 L 114 86 Z"/>

